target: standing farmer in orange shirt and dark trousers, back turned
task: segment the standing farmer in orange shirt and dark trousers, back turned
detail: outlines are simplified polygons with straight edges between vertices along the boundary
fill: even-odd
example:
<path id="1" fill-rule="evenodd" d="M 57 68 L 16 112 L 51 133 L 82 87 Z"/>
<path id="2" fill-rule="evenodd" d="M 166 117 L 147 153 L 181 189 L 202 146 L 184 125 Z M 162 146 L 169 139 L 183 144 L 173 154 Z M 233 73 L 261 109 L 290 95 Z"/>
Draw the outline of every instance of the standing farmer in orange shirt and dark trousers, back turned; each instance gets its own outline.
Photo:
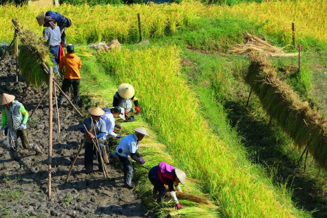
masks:
<path id="1" fill-rule="evenodd" d="M 59 69 L 65 67 L 65 72 L 63 74 L 63 81 L 61 89 L 63 92 L 67 92 L 69 87 L 73 85 L 74 98 L 78 106 L 80 106 L 80 68 L 82 66 L 81 59 L 74 54 L 74 45 L 68 44 L 66 46 L 67 54 L 60 60 Z M 61 107 L 63 103 L 63 94 L 60 93 L 58 99 L 58 107 Z"/>

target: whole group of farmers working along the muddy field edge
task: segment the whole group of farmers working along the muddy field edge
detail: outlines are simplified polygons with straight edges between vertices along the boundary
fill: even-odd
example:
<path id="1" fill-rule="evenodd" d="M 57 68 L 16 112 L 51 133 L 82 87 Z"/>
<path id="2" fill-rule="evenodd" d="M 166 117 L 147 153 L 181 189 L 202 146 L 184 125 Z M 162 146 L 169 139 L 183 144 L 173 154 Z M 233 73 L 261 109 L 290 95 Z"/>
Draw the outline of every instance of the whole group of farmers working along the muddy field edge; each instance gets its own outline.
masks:
<path id="1" fill-rule="evenodd" d="M 65 28 L 72 25 L 72 21 L 60 13 L 48 11 L 42 12 L 36 17 L 40 26 L 46 27 L 43 30 L 43 38 L 46 45 L 49 46 L 54 62 L 55 72 L 58 74 L 59 69 L 64 69 L 64 79 L 61 89 L 66 92 L 73 85 L 74 98 L 76 103 L 80 105 L 79 86 L 80 86 L 80 67 L 81 59 L 74 52 L 74 46 L 66 45 Z M 58 26 L 56 26 L 56 23 Z M 66 47 L 67 54 L 63 56 L 62 46 Z M 113 106 L 110 108 L 93 107 L 88 109 L 89 117 L 83 120 L 81 132 L 84 133 L 84 166 L 86 173 L 93 171 L 93 159 L 97 155 L 95 141 L 98 141 L 101 156 L 105 155 L 106 146 L 109 144 L 111 148 L 115 147 L 113 156 L 116 157 L 123 166 L 124 184 L 128 188 L 133 188 L 133 166 L 130 158 L 141 164 L 145 163 L 143 157 L 138 153 L 139 141 L 144 136 L 149 137 L 144 127 L 133 129 L 134 133 L 122 138 L 121 135 L 114 133 L 114 128 L 119 125 L 115 124 L 115 117 L 120 117 L 125 121 L 133 121 L 133 116 L 129 116 L 133 112 L 133 103 L 135 112 L 139 113 L 138 100 L 135 97 L 135 91 L 132 85 L 123 83 L 118 87 L 117 92 L 113 95 Z M 63 95 L 60 94 L 58 106 L 63 104 Z M 34 150 L 36 154 L 40 154 L 39 147 L 29 143 L 27 120 L 28 112 L 24 106 L 15 100 L 14 95 L 3 93 L 0 97 L 0 105 L 2 105 L 2 125 L 1 133 L 7 136 L 7 143 L 10 151 L 13 152 L 15 159 L 19 158 L 18 154 L 18 137 L 21 139 L 22 146 L 25 149 Z M 121 139 L 122 138 L 122 139 Z M 120 140 L 116 145 L 116 140 Z M 113 142 L 113 143 L 112 143 Z M 99 170 L 103 171 L 98 156 Z M 104 165 L 105 167 L 105 165 Z M 157 195 L 157 202 L 161 202 L 166 195 L 166 185 L 169 188 L 170 196 L 176 204 L 177 209 L 181 209 L 174 187 L 177 191 L 181 191 L 179 183 L 185 183 L 186 174 L 180 169 L 166 163 L 159 162 L 158 165 L 152 167 L 148 173 L 150 182 L 153 184 L 153 195 Z"/>

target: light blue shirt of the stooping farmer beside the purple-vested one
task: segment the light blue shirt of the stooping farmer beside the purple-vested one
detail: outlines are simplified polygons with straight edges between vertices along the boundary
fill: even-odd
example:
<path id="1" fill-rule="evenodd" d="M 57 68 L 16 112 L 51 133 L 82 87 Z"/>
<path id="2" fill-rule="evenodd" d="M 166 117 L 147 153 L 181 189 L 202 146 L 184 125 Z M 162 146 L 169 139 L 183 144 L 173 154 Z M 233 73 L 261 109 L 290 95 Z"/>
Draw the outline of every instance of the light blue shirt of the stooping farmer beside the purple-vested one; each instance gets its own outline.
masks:
<path id="1" fill-rule="evenodd" d="M 116 147 L 116 153 L 122 157 L 130 157 L 138 149 L 138 141 L 135 134 L 125 136 Z"/>

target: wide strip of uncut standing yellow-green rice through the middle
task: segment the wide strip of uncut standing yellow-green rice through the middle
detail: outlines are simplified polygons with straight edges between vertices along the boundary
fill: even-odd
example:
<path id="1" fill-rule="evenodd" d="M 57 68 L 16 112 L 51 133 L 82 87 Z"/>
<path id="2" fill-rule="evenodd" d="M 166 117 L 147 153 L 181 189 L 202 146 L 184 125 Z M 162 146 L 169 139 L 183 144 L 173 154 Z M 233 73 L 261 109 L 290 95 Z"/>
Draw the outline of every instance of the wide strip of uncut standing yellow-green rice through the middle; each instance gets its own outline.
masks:
<path id="1" fill-rule="evenodd" d="M 222 216 L 309 216 L 250 174 L 251 166 L 240 165 L 227 144 L 211 132 L 195 93 L 179 73 L 178 49 L 123 49 L 100 59 L 116 81 L 134 86 L 143 117 L 165 142 L 176 166 L 201 181 L 202 191 L 219 205 Z"/>

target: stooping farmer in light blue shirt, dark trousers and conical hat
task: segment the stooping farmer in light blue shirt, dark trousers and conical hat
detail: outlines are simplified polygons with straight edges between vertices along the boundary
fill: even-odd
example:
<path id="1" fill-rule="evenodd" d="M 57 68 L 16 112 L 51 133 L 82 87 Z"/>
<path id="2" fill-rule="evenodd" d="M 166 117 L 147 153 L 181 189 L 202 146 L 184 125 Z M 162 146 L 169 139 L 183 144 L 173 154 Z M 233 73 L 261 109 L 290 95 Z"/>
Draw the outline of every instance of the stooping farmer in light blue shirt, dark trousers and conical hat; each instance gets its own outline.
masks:
<path id="1" fill-rule="evenodd" d="M 134 131 L 134 134 L 125 136 L 116 148 L 116 154 L 124 167 L 124 183 L 128 188 L 133 188 L 131 183 L 133 178 L 133 166 L 129 157 L 144 164 L 144 159 L 137 152 L 138 143 L 144 138 L 144 136 L 149 137 L 149 134 L 144 127 L 138 127 L 134 129 Z"/>

